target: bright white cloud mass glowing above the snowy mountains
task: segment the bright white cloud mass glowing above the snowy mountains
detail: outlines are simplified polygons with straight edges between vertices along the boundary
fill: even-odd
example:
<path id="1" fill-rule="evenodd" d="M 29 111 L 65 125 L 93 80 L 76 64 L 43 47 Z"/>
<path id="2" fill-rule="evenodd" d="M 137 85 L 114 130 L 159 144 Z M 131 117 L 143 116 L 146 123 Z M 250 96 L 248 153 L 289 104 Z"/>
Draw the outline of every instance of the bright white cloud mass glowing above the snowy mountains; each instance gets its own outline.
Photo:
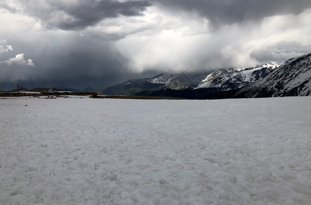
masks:
<path id="1" fill-rule="evenodd" d="M 133 71 L 178 72 L 244 67 L 270 61 L 282 62 L 310 52 L 305 49 L 311 46 L 310 9 L 297 16 L 271 16 L 260 23 L 249 21 L 224 25 L 217 30 L 209 30 L 208 20 L 201 17 L 156 13 L 163 18 L 156 27 L 130 34 L 116 43 L 119 51 L 130 59 L 128 66 Z M 148 22 L 150 16 L 151 12 L 147 12 L 140 18 Z M 296 53 L 287 46 L 293 43 Z M 274 47 L 281 53 L 271 54 Z M 269 58 L 252 55 L 263 50 L 269 53 Z"/>

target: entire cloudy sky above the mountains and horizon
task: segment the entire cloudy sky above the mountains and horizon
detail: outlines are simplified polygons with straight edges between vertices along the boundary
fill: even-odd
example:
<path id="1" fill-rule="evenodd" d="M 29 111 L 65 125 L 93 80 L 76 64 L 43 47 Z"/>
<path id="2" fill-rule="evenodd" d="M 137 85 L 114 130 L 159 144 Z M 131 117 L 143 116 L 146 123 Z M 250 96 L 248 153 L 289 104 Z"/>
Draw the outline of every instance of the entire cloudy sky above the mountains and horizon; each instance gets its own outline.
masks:
<path id="1" fill-rule="evenodd" d="M 0 81 L 105 89 L 311 52 L 310 0 L 0 0 Z"/>

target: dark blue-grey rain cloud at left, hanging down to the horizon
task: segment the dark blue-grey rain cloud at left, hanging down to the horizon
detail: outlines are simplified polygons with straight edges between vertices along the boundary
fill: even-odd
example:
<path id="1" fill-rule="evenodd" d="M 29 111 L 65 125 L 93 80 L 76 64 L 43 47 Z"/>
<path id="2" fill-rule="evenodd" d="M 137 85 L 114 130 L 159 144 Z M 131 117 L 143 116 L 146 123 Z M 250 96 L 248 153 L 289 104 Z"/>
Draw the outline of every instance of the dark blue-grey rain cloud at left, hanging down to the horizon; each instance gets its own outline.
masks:
<path id="1" fill-rule="evenodd" d="M 27 39 L 27 43 L 22 39 L 27 36 L 16 37 L 16 40 L 10 40 L 13 51 L 2 52 L 0 61 L 27 51 L 25 58 L 31 58 L 35 67 L 0 63 L 2 90 L 15 89 L 16 84 L 33 88 L 39 83 L 41 87 L 63 86 L 82 90 L 91 86 L 105 89 L 128 79 L 160 74 L 159 71 L 133 73 L 128 70 L 128 60 L 114 48 L 114 42 L 89 39 L 74 32 L 61 39 L 53 35 L 46 35 L 45 39 L 40 35 L 33 36 Z"/>

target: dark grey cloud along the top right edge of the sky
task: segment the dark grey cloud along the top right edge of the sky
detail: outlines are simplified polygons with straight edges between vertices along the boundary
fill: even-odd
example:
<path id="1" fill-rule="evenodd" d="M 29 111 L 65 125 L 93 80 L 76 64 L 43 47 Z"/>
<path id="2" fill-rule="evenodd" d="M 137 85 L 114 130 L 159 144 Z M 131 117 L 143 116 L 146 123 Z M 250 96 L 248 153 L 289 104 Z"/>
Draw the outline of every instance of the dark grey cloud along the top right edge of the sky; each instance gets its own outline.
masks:
<path id="1" fill-rule="evenodd" d="M 311 7 L 310 0 L 154 0 L 172 11 L 186 10 L 207 17 L 213 25 L 260 20 L 274 15 L 297 15 Z"/>

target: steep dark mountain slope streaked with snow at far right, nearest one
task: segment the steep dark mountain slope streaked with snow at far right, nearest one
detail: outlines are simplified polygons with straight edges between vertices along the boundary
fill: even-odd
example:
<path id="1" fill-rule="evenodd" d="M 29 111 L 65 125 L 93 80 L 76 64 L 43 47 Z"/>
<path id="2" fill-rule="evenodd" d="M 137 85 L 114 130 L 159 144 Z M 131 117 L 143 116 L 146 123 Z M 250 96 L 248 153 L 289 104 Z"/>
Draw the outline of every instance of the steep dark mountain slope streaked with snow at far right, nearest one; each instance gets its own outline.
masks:
<path id="1" fill-rule="evenodd" d="M 250 84 L 236 97 L 284 97 L 311 95 L 311 53 L 292 58 L 261 81 Z"/>

